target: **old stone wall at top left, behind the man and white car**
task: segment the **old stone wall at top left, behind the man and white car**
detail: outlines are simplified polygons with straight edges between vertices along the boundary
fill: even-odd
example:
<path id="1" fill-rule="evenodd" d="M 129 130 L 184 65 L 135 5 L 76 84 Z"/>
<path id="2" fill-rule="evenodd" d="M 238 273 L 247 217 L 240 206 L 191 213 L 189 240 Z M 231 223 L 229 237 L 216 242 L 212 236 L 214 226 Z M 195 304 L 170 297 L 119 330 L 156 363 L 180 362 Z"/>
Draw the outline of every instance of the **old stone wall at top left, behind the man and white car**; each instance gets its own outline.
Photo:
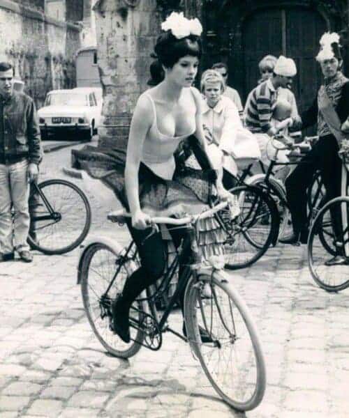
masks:
<path id="1" fill-rule="evenodd" d="M 75 86 L 80 27 L 52 20 L 33 8 L 0 0 L 0 56 L 40 107 L 47 91 Z"/>

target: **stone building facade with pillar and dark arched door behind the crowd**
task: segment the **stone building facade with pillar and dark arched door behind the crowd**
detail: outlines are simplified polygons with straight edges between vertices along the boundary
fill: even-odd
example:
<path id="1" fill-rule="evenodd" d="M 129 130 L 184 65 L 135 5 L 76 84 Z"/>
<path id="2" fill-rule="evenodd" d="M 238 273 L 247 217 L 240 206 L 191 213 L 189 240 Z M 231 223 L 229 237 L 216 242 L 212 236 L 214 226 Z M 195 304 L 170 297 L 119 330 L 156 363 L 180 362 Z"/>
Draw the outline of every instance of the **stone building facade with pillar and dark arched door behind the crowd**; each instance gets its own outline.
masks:
<path id="1" fill-rule="evenodd" d="M 245 100 L 266 54 L 295 59 L 299 109 L 313 100 L 320 70 L 314 60 L 324 31 L 339 31 L 348 61 L 349 0 L 97 0 L 98 65 L 104 87 L 101 144 L 126 146 L 135 102 L 147 88 L 151 52 L 163 18 L 172 10 L 199 17 L 204 27 L 200 71 L 228 63 L 230 85 Z M 199 72 L 200 76 L 200 72 Z"/>

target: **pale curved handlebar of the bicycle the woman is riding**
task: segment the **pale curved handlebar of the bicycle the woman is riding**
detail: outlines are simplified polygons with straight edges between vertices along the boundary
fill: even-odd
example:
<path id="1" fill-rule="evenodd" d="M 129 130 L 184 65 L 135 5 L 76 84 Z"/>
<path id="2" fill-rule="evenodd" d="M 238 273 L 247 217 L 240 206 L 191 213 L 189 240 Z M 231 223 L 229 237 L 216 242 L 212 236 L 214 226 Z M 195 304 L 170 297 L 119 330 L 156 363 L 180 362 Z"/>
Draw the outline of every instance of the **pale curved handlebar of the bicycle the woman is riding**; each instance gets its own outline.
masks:
<path id="1" fill-rule="evenodd" d="M 229 205 L 229 201 L 223 201 L 218 203 L 218 205 L 214 206 L 214 208 L 207 209 L 204 212 L 201 212 L 197 215 L 186 216 L 183 218 L 173 218 L 173 217 L 152 217 L 151 223 L 152 224 L 170 224 L 170 225 L 185 225 L 190 224 L 191 222 L 195 222 L 198 219 L 205 219 L 207 217 L 211 217 L 219 210 L 222 210 L 226 206 Z M 131 217 L 131 213 L 125 212 L 124 209 L 114 210 L 114 212 L 110 212 L 107 215 L 107 219 L 112 222 L 124 222 L 124 218 Z M 150 226 L 150 225 L 149 225 Z"/>

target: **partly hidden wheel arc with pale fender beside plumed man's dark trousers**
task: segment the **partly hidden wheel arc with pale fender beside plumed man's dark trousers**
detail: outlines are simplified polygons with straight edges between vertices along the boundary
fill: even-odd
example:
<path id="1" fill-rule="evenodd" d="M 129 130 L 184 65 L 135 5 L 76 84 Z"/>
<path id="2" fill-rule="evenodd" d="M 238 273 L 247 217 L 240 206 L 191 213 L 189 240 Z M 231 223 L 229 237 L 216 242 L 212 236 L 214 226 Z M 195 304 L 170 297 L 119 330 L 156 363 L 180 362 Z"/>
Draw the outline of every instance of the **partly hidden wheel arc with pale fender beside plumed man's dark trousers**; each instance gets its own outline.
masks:
<path id="1" fill-rule="evenodd" d="M 265 176 L 265 174 L 256 174 L 255 176 L 249 178 L 246 183 L 256 187 L 262 187 L 262 189 L 268 193 L 268 185 L 265 183 Z M 269 185 L 272 193 L 268 194 L 272 199 L 274 199 L 281 219 L 279 236 L 283 236 L 289 232 L 287 231 L 287 228 L 290 222 L 290 210 L 287 206 L 285 206 L 285 204 L 283 204 L 283 201 L 287 201 L 285 187 L 283 187 L 283 184 L 279 180 L 276 180 L 276 178 L 273 177 L 269 177 Z"/>

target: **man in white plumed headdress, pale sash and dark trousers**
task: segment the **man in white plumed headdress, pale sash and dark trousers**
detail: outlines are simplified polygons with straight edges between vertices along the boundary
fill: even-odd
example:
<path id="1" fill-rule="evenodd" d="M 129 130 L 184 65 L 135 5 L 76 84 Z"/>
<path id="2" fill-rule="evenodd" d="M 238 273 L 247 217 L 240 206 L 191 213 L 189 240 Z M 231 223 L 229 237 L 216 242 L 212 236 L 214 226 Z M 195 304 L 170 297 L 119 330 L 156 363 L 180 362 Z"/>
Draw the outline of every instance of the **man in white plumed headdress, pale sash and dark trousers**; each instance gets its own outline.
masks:
<path id="1" fill-rule="evenodd" d="M 341 141 L 346 138 L 342 127 L 349 114 L 349 79 L 341 72 L 343 60 L 337 33 L 325 33 L 322 36 L 316 60 L 320 63 L 324 82 L 313 104 L 302 113 L 301 118 L 303 129 L 317 124 L 319 139 L 302 159 L 302 162 L 307 164 L 299 164 L 285 181 L 293 224 L 292 235 L 280 239 L 280 242 L 285 244 L 305 244 L 307 241 L 306 189 L 310 186 L 316 169 L 320 169 L 327 201 L 341 195 L 342 162 L 338 151 Z M 337 254 L 325 261 L 326 265 L 343 264 L 348 261 L 344 256 L 343 242 L 340 238 L 340 219 L 340 216 L 332 213 Z"/>

